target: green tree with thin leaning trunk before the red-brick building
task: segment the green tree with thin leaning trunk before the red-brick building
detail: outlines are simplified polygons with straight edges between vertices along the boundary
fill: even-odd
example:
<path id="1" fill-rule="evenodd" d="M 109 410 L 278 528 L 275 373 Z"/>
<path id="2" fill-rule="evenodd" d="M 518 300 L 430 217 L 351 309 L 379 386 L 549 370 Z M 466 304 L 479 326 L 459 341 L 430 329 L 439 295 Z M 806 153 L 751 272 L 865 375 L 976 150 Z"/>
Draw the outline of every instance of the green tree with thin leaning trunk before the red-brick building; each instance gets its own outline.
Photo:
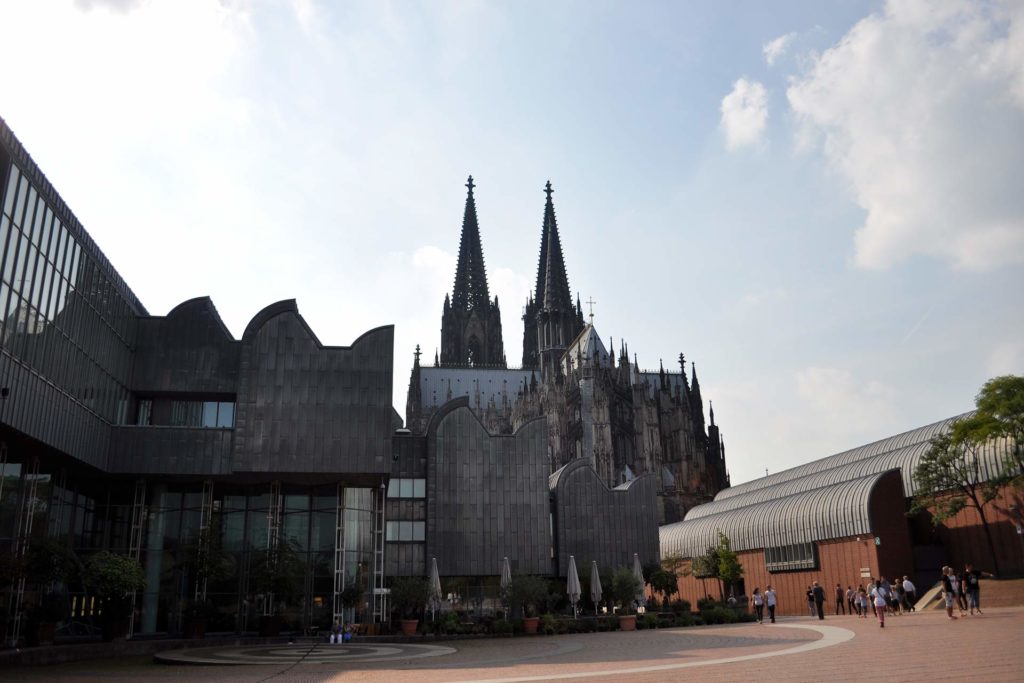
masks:
<path id="1" fill-rule="evenodd" d="M 948 432 L 932 438 L 928 453 L 913 470 L 918 493 L 909 514 L 931 510 L 932 521 L 938 526 L 966 508 L 977 510 L 992 568 L 998 574 L 999 563 L 985 508 L 998 494 L 1004 478 L 989 478 L 982 473 L 979 444 L 970 437 L 976 433 L 976 427 L 970 422 L 971 419 L 954 422 Z"/>

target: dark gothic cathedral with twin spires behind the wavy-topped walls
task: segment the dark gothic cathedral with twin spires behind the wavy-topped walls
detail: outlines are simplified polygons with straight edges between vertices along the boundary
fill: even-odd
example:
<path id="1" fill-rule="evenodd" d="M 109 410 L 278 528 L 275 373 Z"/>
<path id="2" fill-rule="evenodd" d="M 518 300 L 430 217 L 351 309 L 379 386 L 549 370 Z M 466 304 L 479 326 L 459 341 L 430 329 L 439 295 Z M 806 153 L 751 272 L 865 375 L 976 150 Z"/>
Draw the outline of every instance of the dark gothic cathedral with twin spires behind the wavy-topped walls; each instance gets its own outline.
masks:
<path id="1" fill-rule="evenodd" d="M 686 376 L 640 370 L 621 340 L 617 354 L 573 303 L 551 196 L 545 187 L 537 286 L 523 309 L 522 367 L 508 368 L 498 297 L 490 299 L 473 197 L 462 221 L 455 288 L 441 311 L 440 354 L 433 367 L 417 347 L 406 408 L 407 427 L 426 429 L 442 404 L 467 397 L 493 434 L 510 434 L 530 420 L 548 424 L 551 471 L 586 459 L 614 487 L 652 475 L 659 523 L 683 518 L 729 485 L 725 445 L 714 410 L 706 426 L 696 368 Z"/>

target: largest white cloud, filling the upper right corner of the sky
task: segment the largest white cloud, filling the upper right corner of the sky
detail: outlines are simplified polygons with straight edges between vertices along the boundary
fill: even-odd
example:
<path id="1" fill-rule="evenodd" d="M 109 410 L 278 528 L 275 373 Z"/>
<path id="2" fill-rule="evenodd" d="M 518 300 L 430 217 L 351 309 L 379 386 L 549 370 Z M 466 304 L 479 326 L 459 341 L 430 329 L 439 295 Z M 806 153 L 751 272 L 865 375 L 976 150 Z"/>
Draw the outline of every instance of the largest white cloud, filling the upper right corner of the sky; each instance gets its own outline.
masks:
<path id="1" fill-rule="evenodd" d="M 866 212 L 861 267 L 1024 262 L 1024 4 L 893 0 L 787 90 Z"/>

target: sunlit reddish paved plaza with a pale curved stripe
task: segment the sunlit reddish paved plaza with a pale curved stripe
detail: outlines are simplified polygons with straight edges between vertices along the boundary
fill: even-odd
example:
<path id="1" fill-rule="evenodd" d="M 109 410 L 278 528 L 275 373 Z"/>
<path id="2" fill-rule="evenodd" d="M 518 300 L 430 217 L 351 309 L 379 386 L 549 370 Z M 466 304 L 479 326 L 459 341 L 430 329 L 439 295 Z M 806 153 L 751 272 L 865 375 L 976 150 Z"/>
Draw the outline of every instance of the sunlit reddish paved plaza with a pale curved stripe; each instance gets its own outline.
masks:
<path id="1" fill-rule="evenodd" d="M 453 641 L 437 644 L 202 648 L 216 664 L 168 666 L 148 657 L 19 667 L 0 680 L 230 681 L 900 681 L 1024 680 L 1024 608 L 947 621 L 941 612 L 874 620 L 787 618 L 635 633 Z M 346 649 L 348 648 L 348 649 Z M 189 651 L 183 651 L 188 653 Z M 178 651 L 181 654 L 182 651 Z M 230 666 L 224 663 L 234 663 Z M 258 664 L 257 664 L 258 663 Z M 219 665 L 219 666 L 218 666 Z"/>

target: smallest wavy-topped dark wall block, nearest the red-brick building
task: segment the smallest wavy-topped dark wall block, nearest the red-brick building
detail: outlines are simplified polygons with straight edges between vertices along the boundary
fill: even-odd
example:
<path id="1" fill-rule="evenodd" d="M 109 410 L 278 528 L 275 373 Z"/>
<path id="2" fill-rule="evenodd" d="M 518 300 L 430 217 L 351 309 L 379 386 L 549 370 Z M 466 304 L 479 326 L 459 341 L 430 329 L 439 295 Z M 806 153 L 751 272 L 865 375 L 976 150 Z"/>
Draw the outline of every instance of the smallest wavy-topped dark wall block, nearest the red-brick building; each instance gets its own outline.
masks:
<path id="1" fill-rule="evenodd" d="M 563 467 L 551 494 L 555 509 L 558 575 L 565 575 L 569 555 L 577 568 L 597 560 L 602 577 L 633 566 L 633 553 L 644 564 L 658 561 L 657 481 L 653 475 L 608 488 L 584 460 Z"/>

